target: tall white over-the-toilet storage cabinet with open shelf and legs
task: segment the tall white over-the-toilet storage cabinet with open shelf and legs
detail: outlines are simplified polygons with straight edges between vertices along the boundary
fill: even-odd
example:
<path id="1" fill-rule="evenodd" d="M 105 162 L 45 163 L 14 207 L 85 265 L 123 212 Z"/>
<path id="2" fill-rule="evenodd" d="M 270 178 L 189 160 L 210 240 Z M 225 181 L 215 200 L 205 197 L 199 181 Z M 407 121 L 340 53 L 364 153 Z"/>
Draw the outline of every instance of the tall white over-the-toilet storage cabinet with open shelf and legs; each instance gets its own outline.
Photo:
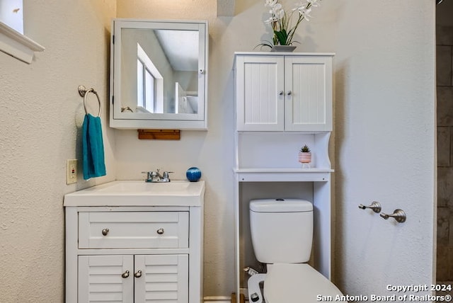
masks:
<path id="1" fill-rule="evenodd" d="M 251 245 L 249 202 L 299 198 L 314 205 L 311 265 L 331 278 L 331 161 L 333 54 L 236 52 L 235 219 L 236 293 L 242 268 L 259 270 Z M 298 162 L 308 144 L 309 168 Z M 238 303 L 239 303 L 239 296 Z"/>

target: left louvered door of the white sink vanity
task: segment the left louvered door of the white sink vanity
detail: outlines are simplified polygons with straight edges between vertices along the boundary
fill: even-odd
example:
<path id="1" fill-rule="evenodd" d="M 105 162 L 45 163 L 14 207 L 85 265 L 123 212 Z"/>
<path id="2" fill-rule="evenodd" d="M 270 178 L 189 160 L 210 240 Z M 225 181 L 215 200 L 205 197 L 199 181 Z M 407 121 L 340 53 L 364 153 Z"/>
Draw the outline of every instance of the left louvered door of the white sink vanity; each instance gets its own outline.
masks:
<path id="1" fill-rule="evenodd" d="M 134 303 L 133 256 L 79 256 L 79 303 Z"/>

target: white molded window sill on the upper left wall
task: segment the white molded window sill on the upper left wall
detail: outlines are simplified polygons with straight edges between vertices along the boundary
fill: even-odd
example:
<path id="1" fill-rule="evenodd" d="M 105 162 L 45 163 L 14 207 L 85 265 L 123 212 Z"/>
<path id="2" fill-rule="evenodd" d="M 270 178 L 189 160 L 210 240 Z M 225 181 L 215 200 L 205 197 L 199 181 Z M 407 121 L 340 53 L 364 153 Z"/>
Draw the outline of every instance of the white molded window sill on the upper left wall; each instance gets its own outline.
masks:
<path id="1" fill-rule="evenodd" d="M 35 52 L 42 52 L 45 48 L 0 22 L 0 50 L 30 64 Z"/>

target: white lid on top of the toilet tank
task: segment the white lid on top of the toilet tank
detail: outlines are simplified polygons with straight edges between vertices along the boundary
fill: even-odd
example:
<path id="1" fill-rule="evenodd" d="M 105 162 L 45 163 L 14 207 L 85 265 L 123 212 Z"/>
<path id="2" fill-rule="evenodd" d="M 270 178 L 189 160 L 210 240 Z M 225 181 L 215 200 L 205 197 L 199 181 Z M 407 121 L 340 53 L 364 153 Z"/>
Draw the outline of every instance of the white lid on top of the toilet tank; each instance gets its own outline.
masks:
<path id="1" fill-rule="evenodd" d="M 250 201 L 252 212 L 312 212 L 313 204 L 302 199 L 259 199 Z"/>

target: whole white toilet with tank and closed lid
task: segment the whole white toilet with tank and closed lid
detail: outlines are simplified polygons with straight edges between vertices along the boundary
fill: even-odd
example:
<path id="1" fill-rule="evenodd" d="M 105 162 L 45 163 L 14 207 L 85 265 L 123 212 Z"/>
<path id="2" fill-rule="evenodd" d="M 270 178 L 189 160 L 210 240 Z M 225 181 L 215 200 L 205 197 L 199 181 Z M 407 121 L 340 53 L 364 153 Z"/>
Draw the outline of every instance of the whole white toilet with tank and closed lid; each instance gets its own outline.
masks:
<path id="1" fill-rule="evenodd" d="M 306 200 L 251 200 L 253 251 L 268 273 L 248 280 L 248 300 L 254 303 L 323 302 L 343 296 L 333 283 L 310 265 L 313 205 Z M 264 296 L 259 283 L 264 281 Z M 263 298 L 264 297 L 264 298 Z"/>

